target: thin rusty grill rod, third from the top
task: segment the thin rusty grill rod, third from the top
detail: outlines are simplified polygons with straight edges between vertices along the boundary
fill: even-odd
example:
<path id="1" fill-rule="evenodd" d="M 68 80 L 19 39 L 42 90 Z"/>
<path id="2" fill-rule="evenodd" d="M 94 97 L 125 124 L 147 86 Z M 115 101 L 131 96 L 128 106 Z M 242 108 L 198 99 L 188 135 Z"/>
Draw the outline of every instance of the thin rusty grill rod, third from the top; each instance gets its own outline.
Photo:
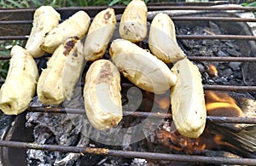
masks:
<path id="1" fill-rule="evenodd" d="M 2 36 L 0 40 L 26 40 L 28 36 Z M 178 39 L 218 39 L 218 40 L 256 40 L 256 36 L 247 35 L 177 35 Z"/>

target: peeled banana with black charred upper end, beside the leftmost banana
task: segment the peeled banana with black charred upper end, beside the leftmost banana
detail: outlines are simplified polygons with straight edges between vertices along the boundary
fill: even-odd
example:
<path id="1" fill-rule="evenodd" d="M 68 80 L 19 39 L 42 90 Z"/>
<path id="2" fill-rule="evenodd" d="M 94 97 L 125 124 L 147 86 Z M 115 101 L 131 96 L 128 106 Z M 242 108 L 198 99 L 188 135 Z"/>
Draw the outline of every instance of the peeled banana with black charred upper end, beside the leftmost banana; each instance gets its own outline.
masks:
<path id="1" fill-rule="evenodd" d="M 38 99 L 42 103 L 58 105 L 65 96 L 70 100 L 84 63 L 82 46 L 78 37 L 69 37 L 55 50 L 38 79 Z"/>

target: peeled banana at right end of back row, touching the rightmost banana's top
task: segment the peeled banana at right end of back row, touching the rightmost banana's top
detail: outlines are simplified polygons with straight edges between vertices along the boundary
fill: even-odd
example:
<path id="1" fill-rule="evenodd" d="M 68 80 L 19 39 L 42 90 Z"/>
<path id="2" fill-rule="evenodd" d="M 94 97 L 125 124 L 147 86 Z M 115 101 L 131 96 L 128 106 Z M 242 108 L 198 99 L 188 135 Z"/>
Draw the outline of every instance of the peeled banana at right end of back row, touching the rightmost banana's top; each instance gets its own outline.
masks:
<path id="1" fill-rule="evenodd" d="M 166 63 L 175 63 L 186 57 L 177 44 L 175 26 L 167 14 L 156 14 L 152 20 L 148 46 L 152 54 Z"/>

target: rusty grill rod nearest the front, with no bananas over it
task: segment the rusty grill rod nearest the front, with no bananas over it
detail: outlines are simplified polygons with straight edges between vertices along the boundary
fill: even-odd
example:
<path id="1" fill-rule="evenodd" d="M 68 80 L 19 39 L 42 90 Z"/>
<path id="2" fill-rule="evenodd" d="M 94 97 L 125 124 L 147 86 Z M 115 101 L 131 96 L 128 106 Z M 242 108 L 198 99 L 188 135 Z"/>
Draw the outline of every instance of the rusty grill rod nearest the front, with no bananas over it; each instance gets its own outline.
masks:
<path id="1" fill-rule="evenodd" d="M 0 140 L 0 146 L 8 146 L 13 148 L 36 149 L 51 152 L 74 152 L 74 153 L 90 153 L 94 155 L 108 155 L 113 157 L 126 158 L 145 158 L 153 160 L 168 160 L 180 162 L 198 162 L 198 163 L 215 163 L 215 164 L 241 164 L 256 165 L 256 159 L 253 158 L 234 158 L 234 157 L 204 157 L 196 155 L 181 155 L 154 152 L 125 152 L 120 150 L 112 150 L 107 148 L 90 148 L 79 146 L 56 146 L 43 145 L 37 143 Z"/>

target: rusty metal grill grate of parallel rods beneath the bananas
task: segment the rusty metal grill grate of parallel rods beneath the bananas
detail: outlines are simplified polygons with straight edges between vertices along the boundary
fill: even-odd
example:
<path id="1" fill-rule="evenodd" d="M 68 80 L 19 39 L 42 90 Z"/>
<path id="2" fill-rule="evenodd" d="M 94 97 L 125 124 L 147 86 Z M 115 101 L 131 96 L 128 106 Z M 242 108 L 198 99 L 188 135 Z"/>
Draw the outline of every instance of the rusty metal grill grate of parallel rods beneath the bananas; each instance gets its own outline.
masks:
<path id="1" fill-rule="evenodd" d="M 190 4 L 190 3 L 187 3 Z M 212 3 L 209 3 L 212 5 Z M 206 3 L 202 4 L 206 5 Z M 107 7 L 87 7 L 87 8 L 61 8 L 57 9 L 60 14 L 73 14 L 79 9 L 89 11 L 91 15 L 95 15 L 102 9 Z M 116 13 L 119 14 L 117 20 L 120 20 L 120 14 L 124 11 L 124 6 L 113 7 Z M 25 25 L 28 26 L 32 24 L 32 14 L 35 9 L 1 9 L 0 14 L 19 15 L 21 18 L 25 17 L 24 20 L 0 20 L 0 26 L 3 25 Z M 234 7 L 234 6 L 200 6 L 199 3 L 196 6 L 172 6 L 172 5 L 159 5 L 159 6 L 148 6 L 148 11 L 157 10 L 207 10 L 207 11 L 226 11 L 226 10 L 236 10 L 236 11 L 256 11 L 255 7 Z M 19 17 L 19 16 L 18 16 Z M 153 18 L 149 17 L 148 20 Z M 240 22 L 256 22 L 256 19 L 245 19 L 245 18 L 218 18 L 218 17 L 172 17 L 172 20 L 221 20 L 221 21 L 240 21 Z M 214 35 L 214 36 L 201 36 L 201 35 L 177 35 L 178 39 L 232 39 L 232 40 L 256 40 L 255 36 L 245 36 L 245 35 Z M 0 40 L 26 40 L 26 35 L 7 35 L 0 36 Z M 0 60 L 9 60 L 9 55 L 1 55 Z M 256 61 L 256 57 L 189 57 L 190 60 L 195 61 Z M 122 84 L 122 86 L 129 86 Z M 223 91 L 256 91 L 256 86 L 224 86 L 224 85 L 204 85 L 204 89 L 212 90 L 223 90 Z M 48 113 L 77 113 L 84 114 L 83 109 L 73 109 L 73 108 L 49 108 L 49 107 L 29 107 L 27 112 L 48 112 Z M 172 117 L 170 114 L 154 113 L 154 112 L 124 112 L 124 115 L 129 115 L 133 117 Z M 207 121 L 213 123 L 250 123 L 256 124 L 256 117 L 207 117 Z M 216 164 L 241 164 L 241 165 L 256 165 L 256 158 L 226 158 L 226 157 L 203 157 L 196 155 L 179 155 L 179 154 L 167 154 L 167 153 L 153 153 L 153 152 L 124 152 L 105 148 L 90 148 L 90 147 L 77 147 L 77 146 L 54 146 L 54 145 L 38 145 L 30 142 L 21 141 L 8 141 L 0 140 L 0 146 L 8 146 L 15 148 L 31 148 L 43 151 L 59 151 L 59 152 L 77 152 L 77 153 L 91 153 L 95 155 L 109 155 L 114 157 L 141 157 L 155 160 L 170 160 L 170 161 L 183 161 L 191 163 L 216 163 Z"/>

